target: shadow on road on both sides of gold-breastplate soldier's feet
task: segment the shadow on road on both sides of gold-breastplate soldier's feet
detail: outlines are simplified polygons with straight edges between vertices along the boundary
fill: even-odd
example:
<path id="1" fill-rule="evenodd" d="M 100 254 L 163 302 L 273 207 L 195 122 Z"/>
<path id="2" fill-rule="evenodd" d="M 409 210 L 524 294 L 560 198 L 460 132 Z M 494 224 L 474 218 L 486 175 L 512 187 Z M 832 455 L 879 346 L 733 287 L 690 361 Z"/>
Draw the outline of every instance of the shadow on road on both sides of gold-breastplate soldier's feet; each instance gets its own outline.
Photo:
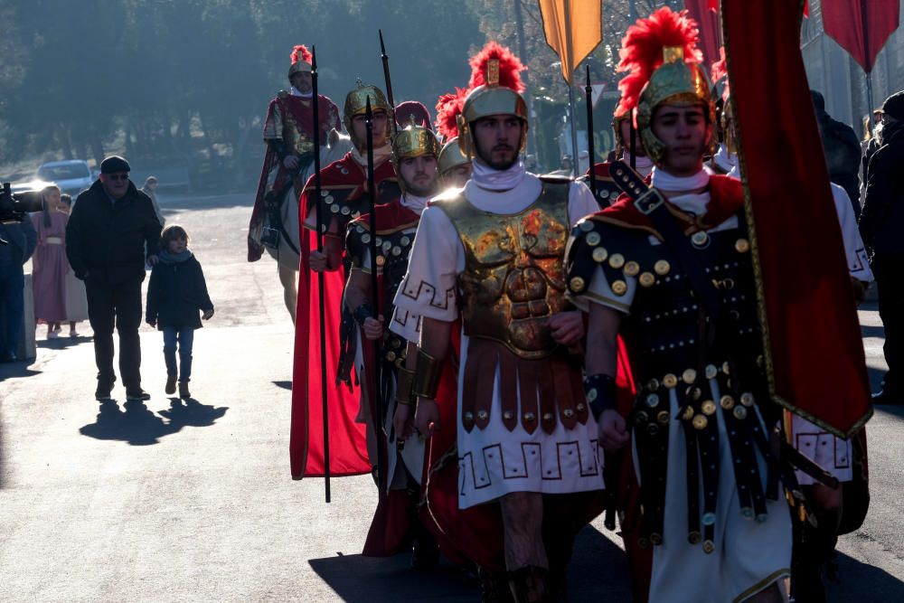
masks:
<path id="1" fill-rule="evenodd" d="M 339 598 L 352 603 L 480 600 L 473 579 L 447 562 L 432 571 L 411 570 L 408 555 L 375 558 L 339 553 L 308 562 Z M 578 534 L 569 580 L 570 600 L 631 600 L 625 553 L 593 526 Z"/>

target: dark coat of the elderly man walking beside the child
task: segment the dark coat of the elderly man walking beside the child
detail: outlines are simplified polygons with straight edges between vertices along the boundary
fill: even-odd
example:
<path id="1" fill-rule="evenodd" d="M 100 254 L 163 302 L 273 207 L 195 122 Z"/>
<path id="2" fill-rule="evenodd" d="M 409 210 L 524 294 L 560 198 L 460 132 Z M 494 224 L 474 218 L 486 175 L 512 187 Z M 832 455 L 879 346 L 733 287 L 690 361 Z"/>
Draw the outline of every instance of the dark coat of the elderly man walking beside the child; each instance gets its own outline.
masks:
<path id="1" fill-rule="evenodd" d="M 160 222 L 145 193 L 128 184 L 111 203 L 98 180 L 81 193 L 66 225 L 66 256 L 78 278 L 104 285 L 145 279 L 145 250 L 159 248 Z"/>

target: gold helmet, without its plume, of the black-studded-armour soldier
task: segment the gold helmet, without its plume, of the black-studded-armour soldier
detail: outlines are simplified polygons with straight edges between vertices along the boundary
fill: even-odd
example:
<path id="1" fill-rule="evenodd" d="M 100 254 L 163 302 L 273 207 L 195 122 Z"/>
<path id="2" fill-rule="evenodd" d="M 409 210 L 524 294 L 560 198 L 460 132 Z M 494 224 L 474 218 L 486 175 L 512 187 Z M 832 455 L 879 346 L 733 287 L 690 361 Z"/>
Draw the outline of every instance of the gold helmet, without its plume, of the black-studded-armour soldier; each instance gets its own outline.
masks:
<path id="1" fill-rule="evenodd" d="M 637 129 L 646 154 L 658 164 L 665 146 L 653 133 L 653 113 L 660 105 L 700 105 L 710 123 L 716 123 L 716 105 L 710 93 L 710 79 L 695 62 L 684 61 L 680 46 L 663 49 L 663 65 L 653 72 L 637 103 Z M 710 144 L 712 140 L 709 141 Z"/>

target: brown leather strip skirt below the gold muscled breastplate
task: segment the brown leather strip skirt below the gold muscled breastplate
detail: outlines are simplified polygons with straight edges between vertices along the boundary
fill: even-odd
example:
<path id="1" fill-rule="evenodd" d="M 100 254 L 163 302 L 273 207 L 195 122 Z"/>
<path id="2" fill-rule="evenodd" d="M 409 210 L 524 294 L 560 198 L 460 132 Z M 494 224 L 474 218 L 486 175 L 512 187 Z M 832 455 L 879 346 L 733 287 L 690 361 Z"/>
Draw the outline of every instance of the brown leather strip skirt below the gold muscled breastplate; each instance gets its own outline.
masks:
<path id="1" fill-rule="evenodd" d="M 466 431 L 485 429 L 490 422 L 496 370 L 503 424 L 512 431 L 519 415 L 525 431 L 541 427 L 552 433 L 561 421 L 566 429 L 587 422 L 580 364 L 566 353 L 528 360 L 499 342 L 472 337 L 467 346 L 461 421 Z M 520 408 L 519 408 L 519 391 Z"/>

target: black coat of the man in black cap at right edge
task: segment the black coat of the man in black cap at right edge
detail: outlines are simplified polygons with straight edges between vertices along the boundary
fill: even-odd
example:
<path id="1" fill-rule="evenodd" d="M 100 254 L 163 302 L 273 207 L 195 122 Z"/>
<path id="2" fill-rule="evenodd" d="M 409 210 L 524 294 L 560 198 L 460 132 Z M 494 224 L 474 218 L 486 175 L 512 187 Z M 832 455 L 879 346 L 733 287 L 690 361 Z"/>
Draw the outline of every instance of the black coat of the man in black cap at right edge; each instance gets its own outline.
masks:
<path id="1" fill-rule="evenodd" d="M 877 254 L 904 255 L 904 122 L 886 124 L 870 159 L 860 233 Z"/>

